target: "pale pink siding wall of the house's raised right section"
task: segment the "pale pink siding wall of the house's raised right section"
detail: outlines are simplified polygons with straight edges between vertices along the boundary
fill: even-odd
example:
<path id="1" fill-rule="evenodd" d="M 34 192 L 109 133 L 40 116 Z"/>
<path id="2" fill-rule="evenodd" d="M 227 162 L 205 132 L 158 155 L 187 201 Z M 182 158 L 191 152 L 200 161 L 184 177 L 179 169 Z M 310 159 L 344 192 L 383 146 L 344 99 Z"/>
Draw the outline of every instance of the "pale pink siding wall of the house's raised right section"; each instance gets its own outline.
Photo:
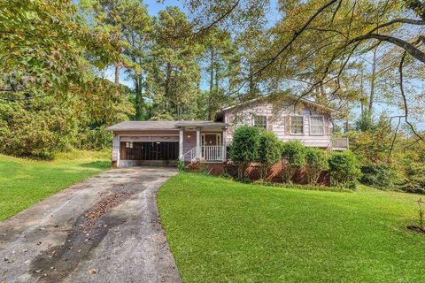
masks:
<path id="1" fill-rule="evenodd" d="M 227 143 L 233 138 L 233 130 L 237 125 L 253 125 L 253 116 L 267 116 L 267 129 L 273 131 L 281 141 L 297 140 L 303 142 L 305 146 L 328 148 L 330 147 L 331 120 L 327 113 L 320 113 L 309 108 L 307 105 L 282 107 L 276 109 L 271 103 L 251 103 L 243 108 L 234 108 L 224 112 L 224 122 L 228 123 Z M 304 134 L 290 134 L 290 115 L 300 115 L 304 117 Z M 324 117 L 324 134 L 310 134 L 310 117 L 321 115 Z"/>

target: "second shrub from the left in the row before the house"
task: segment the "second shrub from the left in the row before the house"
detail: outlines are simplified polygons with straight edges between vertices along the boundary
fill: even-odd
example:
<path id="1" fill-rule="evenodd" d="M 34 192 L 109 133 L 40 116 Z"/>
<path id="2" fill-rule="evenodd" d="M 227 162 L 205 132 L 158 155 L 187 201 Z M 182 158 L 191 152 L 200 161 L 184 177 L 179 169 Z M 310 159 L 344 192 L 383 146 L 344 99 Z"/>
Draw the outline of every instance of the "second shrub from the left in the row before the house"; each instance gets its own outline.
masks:
<path id="1" fill-rule="evenodd" d="M 264 179 L 267 176 L 268 168 L 279 161 L 281 158 L 280 142 L 276 135 L 269 131 L 263 131 L 259 135 L 259 162 L 260 177 Z"/>

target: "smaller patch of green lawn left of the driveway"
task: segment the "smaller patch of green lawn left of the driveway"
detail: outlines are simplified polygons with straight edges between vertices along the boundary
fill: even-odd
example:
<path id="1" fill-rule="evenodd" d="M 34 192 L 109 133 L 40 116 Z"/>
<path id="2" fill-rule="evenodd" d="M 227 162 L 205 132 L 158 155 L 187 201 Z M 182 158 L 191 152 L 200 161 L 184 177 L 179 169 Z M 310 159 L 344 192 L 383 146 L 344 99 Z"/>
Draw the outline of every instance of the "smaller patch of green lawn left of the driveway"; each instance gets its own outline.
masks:
<path id="1" fill-rule="evenodd" d="M 109 152 L 72 150 L 55 161 L 0 155 L 0 221 L 110 167 Z"/>

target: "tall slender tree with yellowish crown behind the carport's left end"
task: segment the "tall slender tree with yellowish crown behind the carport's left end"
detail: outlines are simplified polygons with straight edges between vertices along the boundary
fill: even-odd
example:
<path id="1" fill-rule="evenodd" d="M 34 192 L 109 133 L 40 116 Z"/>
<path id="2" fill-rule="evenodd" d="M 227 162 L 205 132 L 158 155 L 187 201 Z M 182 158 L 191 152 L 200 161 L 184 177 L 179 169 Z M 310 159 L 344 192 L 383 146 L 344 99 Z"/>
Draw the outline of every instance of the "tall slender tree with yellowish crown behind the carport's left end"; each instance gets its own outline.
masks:
<path id="1" fill-rule="evenodd" d="M 103 28 L 109 36 L 120 41 L 120 62 L 114 62 L 115 83 L 120 83 L 120 69 L 125 70 L 134 83 L 135 116 L 143 119 L 146 111 L 147 64 L 153 43 L 153 19 L 145 5 L 139 0 L 98 0 L 88 4 L 94 12 L 96 26 Z M 146 115 L 144 115 L 145 118 Z"/>

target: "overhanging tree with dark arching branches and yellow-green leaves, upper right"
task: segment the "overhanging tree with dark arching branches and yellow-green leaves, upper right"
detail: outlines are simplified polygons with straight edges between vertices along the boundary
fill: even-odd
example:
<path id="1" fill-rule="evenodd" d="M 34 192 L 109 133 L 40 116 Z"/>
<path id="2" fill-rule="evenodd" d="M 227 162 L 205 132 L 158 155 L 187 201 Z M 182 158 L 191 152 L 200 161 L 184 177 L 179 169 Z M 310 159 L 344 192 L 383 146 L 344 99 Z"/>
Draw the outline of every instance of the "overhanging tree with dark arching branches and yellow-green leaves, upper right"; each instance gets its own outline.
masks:
<path id="1" fill-rule="evenodd" d="M 223 22 L 220 13 L 229 19 L 249 21 L 252 14 L 269 8 L 264 2 L 256 1 L 250 3 L 250 9 L 239 1 L 235 3 L 236 8 L 231 5 L 232 1 L 211 1 L 204 5 L 194 0 L 188 2 L 197 11 L 213 11 L 214 8 L 220 11 L 215 14 L 220 19 L 213 21 L 216 23 Z M 301 82 L 298 84 L 300 96 L 313 96 L 317 89 L 325 89 L 327 100 L 344 100 L 344 77 L 354 74 L 352 64 L 379 45 L 383 53 L 392 53 L 390 64 L 399 62 L 399 93 L 393 99 L 404 111 L 402 117 L 406 125 L 425 142 L 409 120 L 412 112 L 404 90 L 406 78 L 403 73 L 406 65 L 419 64 L 423 68 L 425 64 L 425 40 L 421 34 L 425 25 L 423 6 L 421 0 L 282 1 L 278 9 L 284 17 L 271 29 L 275 35 L 263 51 L 267 56 L 244 82 L 261 78 L 270 83 L 274 78 L 273 85 L 282 86 L 285 85 L 283 79 L 295 80 Z"/>

